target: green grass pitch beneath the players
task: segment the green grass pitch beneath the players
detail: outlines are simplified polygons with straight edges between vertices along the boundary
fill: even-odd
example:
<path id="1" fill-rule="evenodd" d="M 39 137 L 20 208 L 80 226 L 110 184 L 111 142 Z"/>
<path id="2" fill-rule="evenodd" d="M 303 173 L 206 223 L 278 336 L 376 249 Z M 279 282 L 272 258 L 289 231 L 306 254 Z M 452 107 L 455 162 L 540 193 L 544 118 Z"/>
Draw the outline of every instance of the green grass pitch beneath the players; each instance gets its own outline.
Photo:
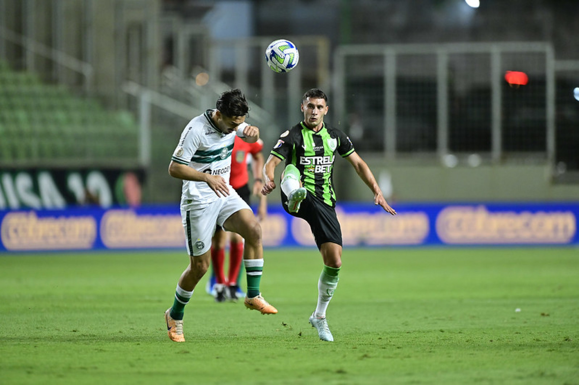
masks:
<path id="1" fill-rule="evenodd" d="M 317 250 L 266 250 L 279 313 L 202 285 L 171 342 L 182 252 L 0 256 L 2 384 L 579 384 L 579 250 L 346 249 L 322 342 Z M 515 309 L 521 309 L 515 312 Z"/>

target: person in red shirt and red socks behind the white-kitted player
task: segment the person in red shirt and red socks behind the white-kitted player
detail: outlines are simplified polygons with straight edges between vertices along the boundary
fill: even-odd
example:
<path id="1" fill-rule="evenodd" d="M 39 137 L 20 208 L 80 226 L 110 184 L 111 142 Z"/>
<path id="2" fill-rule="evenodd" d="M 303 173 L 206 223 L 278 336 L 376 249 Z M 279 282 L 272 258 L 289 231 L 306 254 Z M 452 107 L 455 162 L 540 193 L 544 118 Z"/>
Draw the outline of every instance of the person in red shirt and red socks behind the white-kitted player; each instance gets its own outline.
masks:
<path id="1" fill-rule="evenodd" d="M 248 205 L 251 194 L 259 198 L 257 210 L 258 221 L 262 221 L 267 214 L 267 199 L 261 194 L 263 179 L 263 141 L 255 143 L 244 142 L 235 138 L 231 156 L 231 175 L 229 184 Z M 250 190 L 248 169 L 248 155 L 251 154 L 250 164 L 253 174 L 253 186 Z M 225 245 L 229 237 L 229 274 L 225 277 Z M 238 296 L 245 295 L 239 286 L 241 277 L 241 260 L 243 259 L 243 238 L 239 234 L 223 231 L 221 226 L 215 229 L 211 242 L 212 275 L 208 280 L 206 290 L 214 295 L 215 301 L 224 302 L 226 299 L 237 301 Z"/>

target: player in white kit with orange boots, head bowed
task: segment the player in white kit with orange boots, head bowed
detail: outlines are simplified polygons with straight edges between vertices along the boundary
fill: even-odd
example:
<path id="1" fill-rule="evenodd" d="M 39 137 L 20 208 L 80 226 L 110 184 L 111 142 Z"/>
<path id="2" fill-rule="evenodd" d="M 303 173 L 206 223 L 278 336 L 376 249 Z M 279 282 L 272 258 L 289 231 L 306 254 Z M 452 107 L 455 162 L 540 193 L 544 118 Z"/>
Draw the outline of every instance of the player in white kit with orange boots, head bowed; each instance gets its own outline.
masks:
<path id="1" fill-rule="evenodd" d="M 183 180 L 181 217 L 189 254 L 189 266 L 179 278 L 173 306 L 165 312 L 167 333 L 175 342 L 185 341 L 184 308 L 207 272 L 217 224 L 245 240 L 245 306 L 262 314 L 277 313 L 259 292 L 263 271 L 261 226 L 247 203 L 229 185 L 234 135 L 254 143 L 259 139 L 259 129 L 245 123 L 249 107 L 240 90 L 223 92 L 216 106 L 189 121 L 169 165 L 169 174 Z"/>

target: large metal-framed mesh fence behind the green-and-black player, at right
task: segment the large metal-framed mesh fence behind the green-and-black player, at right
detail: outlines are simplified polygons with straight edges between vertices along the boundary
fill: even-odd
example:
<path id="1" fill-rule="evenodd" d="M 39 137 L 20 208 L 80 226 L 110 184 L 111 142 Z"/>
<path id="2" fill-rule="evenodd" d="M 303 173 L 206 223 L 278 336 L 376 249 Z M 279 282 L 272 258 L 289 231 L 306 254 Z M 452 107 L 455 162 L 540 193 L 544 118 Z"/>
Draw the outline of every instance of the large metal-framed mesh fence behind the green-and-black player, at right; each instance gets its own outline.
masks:
<path id="1" fill-rule="evenodd" d="M 549 43 L 349 45 L 335 51 L 335 97 L 361 150 L 389 158 L 555 161 Z M 504 79 L 526 73 L 528 84 Z"/>

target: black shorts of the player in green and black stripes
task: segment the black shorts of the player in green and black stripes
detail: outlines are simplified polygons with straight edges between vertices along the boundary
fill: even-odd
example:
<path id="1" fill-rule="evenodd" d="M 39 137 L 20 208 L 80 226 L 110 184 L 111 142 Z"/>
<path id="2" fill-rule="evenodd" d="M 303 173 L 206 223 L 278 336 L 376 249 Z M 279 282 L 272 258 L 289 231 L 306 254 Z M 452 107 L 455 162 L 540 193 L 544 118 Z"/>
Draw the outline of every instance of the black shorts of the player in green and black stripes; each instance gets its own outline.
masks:
<path id="1" fill-rule="evenodd" d="M 287 200 L 288 198 L 284 192 L 281 191 L 281 203 L 284 206 L 285 212 L 291 216 L 305 220 L 310 225 L 318 250 L 322 243 L 326 242 L 332 242 L 342 246 L 342 228 L 340 228 L 335 208 L 328 206 L 309 191 L 307 192 L 306 199 L 303 199 L 299 206 L 297 213 L 290 213 Z"/>

